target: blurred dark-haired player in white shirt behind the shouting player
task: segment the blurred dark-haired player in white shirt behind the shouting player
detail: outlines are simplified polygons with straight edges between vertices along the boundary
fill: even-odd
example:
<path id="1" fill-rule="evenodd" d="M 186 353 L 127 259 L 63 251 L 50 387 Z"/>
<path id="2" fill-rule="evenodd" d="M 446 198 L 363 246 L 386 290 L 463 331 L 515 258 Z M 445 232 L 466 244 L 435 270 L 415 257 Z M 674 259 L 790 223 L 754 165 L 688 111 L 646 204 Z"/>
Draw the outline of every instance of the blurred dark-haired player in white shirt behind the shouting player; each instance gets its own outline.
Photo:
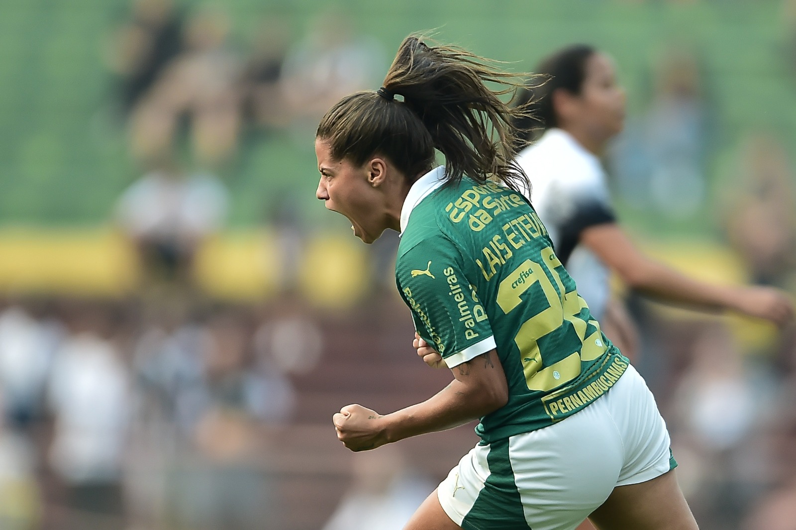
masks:
<path id="1" fill-rule="evenodd" d="M 625 94 L 609 57 L 574 45 L 543 60 L 537 73 L 549 79 L 521 92 L 520 104 L 533 100 L 534 112 L 516 125 L 543 134 L 521 150 L 517 164 L 531 179 L 534 208 L 592 316 L 603 322 L 611 270 L 628 286 L 667 302 L 737 310 L 779 324 L 790 318 L 790 302 L 780 291 L 689 279 L 642 254 L 617 224 L 598 158 L 622 131 L 625 115 Z"/>

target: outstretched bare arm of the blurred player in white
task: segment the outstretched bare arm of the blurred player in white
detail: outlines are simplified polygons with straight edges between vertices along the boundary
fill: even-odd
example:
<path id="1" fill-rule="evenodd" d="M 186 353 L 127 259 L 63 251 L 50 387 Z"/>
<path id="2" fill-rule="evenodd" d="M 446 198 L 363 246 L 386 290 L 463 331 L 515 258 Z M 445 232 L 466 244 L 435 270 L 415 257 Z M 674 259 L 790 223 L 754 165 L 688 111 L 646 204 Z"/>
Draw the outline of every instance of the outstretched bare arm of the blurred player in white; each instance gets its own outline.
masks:
<path id="1" fill-rule="evenodd" d="M 580 232 L 580 242 L 628 286 L 662 301 L 706 310 L 736 310 L 778 325 L 793 318 L 793 304 L 782 291 L 762 286 L 720 286 L 681 275 L 642 254 L 618 224 L 586 228 Z"/>

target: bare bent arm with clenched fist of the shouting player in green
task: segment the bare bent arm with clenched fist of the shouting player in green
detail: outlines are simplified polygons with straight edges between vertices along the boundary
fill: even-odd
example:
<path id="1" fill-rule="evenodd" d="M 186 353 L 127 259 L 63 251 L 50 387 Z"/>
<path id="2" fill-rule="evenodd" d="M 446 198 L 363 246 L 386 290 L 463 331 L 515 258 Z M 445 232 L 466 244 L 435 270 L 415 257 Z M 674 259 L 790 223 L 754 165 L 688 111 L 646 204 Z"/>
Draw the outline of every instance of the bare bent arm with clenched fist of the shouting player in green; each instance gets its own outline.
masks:
<path id="1" fill-rule="evenodd" d="M 353 451 L 444 431 L 497 411 L 509 399 L 509 387 L 497 350 L 451 368 L 454 380 L 435 396 L 388 415 L 347 405 L 334 415 L 338 438 Z"/>

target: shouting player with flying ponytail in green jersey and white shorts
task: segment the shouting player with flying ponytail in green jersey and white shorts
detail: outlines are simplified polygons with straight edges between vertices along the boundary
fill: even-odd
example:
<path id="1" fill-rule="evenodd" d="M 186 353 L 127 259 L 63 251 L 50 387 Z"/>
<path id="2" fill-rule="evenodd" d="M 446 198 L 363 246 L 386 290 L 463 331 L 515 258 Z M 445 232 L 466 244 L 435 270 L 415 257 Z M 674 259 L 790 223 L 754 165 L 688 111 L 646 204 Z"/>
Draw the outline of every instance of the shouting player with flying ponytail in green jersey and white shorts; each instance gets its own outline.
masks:
<path id="1" fill-rule="evenodd" d="M 498 98 L 516 88 L 480 57 L 408 37 L 379 91 L 345 97 L 318 126 L 318 198 L 365 243 L 401 233 L 400 294 L 454 376 L 392 414 L 342 407 L 338 438 L 369 450 L 480 419 L 481 442 L 407 530 L 571 530 L 587 516 L 693 530 L 653 396 L 517 192 L 511 123 L 527 109 Z"/>

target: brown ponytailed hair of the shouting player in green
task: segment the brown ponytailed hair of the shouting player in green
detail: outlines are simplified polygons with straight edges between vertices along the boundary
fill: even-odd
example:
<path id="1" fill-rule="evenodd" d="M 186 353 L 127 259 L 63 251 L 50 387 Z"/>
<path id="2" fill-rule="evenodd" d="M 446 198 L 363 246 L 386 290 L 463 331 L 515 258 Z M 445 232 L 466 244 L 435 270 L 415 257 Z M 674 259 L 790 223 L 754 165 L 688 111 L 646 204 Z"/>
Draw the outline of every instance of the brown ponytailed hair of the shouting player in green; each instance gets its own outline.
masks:
<path id="1" fill-rule="evenodd" d="M 384 89 L 403 100 L 373 91 L 346 96 L 326 113 L 316 136 L 330 143 L 334 158 L 357 166 L 380 154 L 414 180 L 431 170 L 439 150 L 448 184 L 466 175 L 519 189 L 528 178 L 511 148 L 524 135 L 515 123 L 528 113 L 527 105 L 500 96 L 514 96 L 523 86 L 516 74 L 489 60 L 410 36 L 384 78 Z"/>

